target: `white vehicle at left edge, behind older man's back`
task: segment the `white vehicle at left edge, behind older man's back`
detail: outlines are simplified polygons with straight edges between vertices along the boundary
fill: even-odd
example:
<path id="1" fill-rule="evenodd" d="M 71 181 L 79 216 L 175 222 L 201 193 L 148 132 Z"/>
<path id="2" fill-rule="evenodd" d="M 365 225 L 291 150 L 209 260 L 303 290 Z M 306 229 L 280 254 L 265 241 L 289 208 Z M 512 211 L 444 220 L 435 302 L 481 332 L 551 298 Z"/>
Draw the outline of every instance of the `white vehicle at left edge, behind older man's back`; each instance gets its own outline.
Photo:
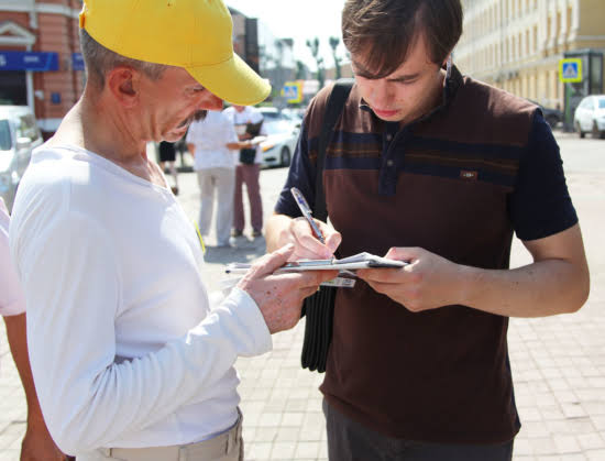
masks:
<path id="1" fill-rule="evenodd" d="M 0 106 L 0 197 L 9 210 L 32 150 L 43 142 L 29 107 Z"/>

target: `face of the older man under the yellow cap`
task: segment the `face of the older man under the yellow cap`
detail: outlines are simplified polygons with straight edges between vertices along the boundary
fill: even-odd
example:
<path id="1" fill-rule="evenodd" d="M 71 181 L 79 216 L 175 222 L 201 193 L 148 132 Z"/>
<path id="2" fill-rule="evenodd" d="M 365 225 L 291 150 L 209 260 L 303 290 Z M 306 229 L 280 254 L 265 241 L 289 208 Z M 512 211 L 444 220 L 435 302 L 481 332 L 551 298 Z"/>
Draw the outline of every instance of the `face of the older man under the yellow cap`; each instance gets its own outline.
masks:
<path id="1" fill-rule="evenodd" d="M 212 95 L 178 67 L 169 67 L 158 80 L 143 78 L 141 107 L 146 138 L 175 142 L 182 139 L 199 110 L 221 110 Z"/>

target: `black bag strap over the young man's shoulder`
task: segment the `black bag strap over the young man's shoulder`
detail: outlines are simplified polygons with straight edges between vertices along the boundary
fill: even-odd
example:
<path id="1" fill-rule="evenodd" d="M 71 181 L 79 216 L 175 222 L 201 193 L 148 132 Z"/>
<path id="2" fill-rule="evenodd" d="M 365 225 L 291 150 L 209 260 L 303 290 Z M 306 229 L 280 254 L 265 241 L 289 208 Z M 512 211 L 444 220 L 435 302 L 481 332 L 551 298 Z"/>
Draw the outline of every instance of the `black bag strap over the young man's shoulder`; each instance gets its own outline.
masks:
<path id="1" fill-rule="evenodd" d="M 332 92 L 328 98 L 326 105 L 326 114 L 323 116 L 323 123 L 321 127 L 321 133 L 319 134 L 319 151 L 317 153 L 316 164 L 316 178 L 315 178 L 315 202 L 314 202 L 314 217 L 320 221 L 324 221 L 328 218 L 328 210 L 326 209 L 326 195 L 323 194 L 323 166 L 326 164 L 326 149 L 332 136 L 334 125 L 340 117 L 344 103 L 349 98 L 351 88 L 353 87 L 353 79 L 343 78 L 338 80 L 332 88 Z"/>

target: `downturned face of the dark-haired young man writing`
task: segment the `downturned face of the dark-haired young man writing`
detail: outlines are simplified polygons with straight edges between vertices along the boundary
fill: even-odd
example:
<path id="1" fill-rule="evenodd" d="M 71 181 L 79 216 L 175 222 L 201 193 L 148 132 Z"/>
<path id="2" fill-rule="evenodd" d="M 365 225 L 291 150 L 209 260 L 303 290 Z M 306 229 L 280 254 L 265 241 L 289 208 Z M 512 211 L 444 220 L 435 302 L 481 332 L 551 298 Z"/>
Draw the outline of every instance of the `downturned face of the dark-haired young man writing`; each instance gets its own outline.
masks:
<path id="1" fill-rule="evenodd" d="M 409 123 L 430 111 L 443 85 L 441 67 L 429 59 L 424 36 L 410 46 L 407 59 L 391 75 L 373 79 L 364 57 L 352 55 L 352 67 L 361 96 L 376 117 Z"/>

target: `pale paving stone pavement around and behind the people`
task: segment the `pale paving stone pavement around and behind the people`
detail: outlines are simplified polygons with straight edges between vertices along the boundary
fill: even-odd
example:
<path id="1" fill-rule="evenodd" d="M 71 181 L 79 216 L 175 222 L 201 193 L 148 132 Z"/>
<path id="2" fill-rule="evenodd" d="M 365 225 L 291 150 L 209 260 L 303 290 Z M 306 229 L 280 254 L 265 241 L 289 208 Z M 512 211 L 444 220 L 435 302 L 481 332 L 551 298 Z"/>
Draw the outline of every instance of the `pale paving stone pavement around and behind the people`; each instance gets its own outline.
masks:
<path id="1" fill-rule="evenodd" d="M 285 169 L 262 172 L 265 216 L 272 212 L 285 174 Z M 592 293 L 580 312 L 510 321 L 510 363 L 522 422 L 515 461 L 605 460 L 605 253 L 601 244 L 605 174 L 568 173 L 568 183 L 584 232 Z M 180 174 L 179 188 L 179 199 L 195 219 L 195 175 Z M 250 261 L 265 251 L 262 238 L 239 238 L 231 249 L 215 248 L 213 235 L 207 243 L 205 277 L 215 289 L 226 262 Z M 512 265 L 528 261 L 527 252 L 515 242 Z M 25 429 L 25 402 L 0 330 L 0 461 L 15 461 Z M 237 362 L 246 460 L 327 460 L 317 389 L 321 375 L 299 366 L 302 337 L 304 320 L 294 330 L 275 334 L 271 353 Z"/>

